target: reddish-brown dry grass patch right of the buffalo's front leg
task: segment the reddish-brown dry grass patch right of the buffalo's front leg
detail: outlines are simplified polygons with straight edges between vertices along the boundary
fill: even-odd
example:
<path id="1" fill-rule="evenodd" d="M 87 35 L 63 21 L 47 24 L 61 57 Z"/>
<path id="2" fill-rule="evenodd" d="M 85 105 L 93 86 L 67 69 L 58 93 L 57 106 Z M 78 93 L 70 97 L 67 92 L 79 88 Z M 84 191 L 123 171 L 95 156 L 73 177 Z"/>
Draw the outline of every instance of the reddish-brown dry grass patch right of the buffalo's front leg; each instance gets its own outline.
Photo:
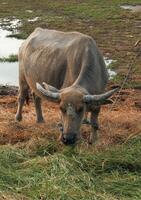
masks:
<path id="1" fill-rule="evenodd" d="M 103 138 L 102 141 L 115 144 L 125 142 L 131 135 L 136 135 L 141 131 L 141 112 L 140 108 L 135 107 L 135 102 L 140 99 L 140 91 L 128 90 L 129 94 L 122 95 L 115 108 L 107 111 L 103 109 L 101 114 L 101 125 Z"/>

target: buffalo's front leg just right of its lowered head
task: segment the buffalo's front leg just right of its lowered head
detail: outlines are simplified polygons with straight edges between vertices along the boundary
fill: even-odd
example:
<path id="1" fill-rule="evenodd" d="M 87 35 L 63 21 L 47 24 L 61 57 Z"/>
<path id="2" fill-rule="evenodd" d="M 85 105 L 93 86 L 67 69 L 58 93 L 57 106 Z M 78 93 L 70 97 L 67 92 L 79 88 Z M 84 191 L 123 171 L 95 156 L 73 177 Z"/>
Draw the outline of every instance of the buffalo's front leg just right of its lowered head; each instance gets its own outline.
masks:
<path id="1" fill-rule="evenodd" d="M 97 141 L 98 139 L 98 115 L 100 112 L 100 107 L 95 108 L 94 110 L 91 111 L 91 133 L 89 136 L 89 144 L 93 144 Z"/>

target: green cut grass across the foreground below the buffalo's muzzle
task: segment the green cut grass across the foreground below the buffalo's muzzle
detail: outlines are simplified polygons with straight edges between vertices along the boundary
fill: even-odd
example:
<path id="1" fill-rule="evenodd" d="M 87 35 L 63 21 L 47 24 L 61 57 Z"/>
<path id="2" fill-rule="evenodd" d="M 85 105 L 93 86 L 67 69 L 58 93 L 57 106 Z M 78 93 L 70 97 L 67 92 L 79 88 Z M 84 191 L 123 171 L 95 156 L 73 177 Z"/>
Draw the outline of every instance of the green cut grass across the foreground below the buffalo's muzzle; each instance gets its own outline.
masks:
<path id="1" fill-rule="evenodd" d="M 141 199 L 141 136 L 93 152 L 80 147 L 59 150 L 53 144 L 56 150 L 50 153 L 50 146 L 42 147 L 46 156 L 39 145 L 36 153 L 1 147 L 0 190 L 34 200 Z"/>

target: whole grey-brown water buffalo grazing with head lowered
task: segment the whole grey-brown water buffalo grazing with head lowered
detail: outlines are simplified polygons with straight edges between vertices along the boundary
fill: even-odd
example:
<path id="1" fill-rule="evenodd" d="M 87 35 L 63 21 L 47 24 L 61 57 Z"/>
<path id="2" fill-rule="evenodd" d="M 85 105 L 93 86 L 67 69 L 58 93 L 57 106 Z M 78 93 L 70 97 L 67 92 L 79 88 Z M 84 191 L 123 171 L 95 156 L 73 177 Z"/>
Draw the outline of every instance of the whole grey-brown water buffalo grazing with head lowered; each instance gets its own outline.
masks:
<path id="1" fill-rule="evenodd" d="M 33 91 L 37 122 L 43 122 L 41 99 L 59 103 L 64 144 L 75 144 L 86 112 L 91 113 L 89 143 L 97 137 L 102 104 L 117 89 L 104 92 L 108 73 L 103 56 L 92 37 L 79 32 L 36 28 L 19 50 L 19 98 L 16 120 Z"/>

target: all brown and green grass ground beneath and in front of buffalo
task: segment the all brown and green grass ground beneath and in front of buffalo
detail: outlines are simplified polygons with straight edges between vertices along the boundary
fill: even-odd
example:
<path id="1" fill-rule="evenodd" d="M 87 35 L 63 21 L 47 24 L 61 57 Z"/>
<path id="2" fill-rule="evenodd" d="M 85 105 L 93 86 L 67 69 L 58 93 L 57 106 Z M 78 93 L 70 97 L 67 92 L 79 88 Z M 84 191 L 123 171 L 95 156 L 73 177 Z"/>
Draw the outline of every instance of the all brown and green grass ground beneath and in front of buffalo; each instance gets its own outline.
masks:
<path id="1" fill-rule="evenodd" d="M 1 96 L 0 198 L 139 200 L 141 112 L 135 103 L 140 98 L 140 90 L 123 90 L 112 111 L 111 106 L 101 110 L 97 144 L 87 144 L 90 127 L 85 125 L 73 149 L 57 141 L 56 104 L 44 102 L 46 123 L 37 124 L 30 102 L 17 123 L 16 97 Z"/>

